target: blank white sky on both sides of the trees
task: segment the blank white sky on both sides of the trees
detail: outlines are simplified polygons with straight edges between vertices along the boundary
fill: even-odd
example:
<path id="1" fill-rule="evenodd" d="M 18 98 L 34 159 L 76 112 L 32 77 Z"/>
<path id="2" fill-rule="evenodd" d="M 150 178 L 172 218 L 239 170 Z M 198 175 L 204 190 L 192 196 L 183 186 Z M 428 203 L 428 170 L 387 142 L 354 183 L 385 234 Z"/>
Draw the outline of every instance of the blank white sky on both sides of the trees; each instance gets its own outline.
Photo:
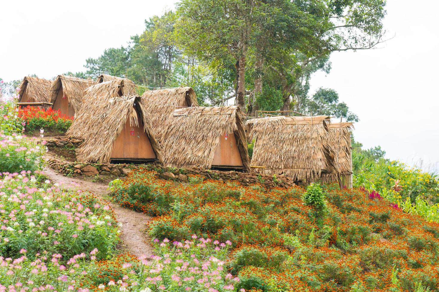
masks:
<path id="1" fill-rule="evenodd" d="M 144 20 L 172 9 L 161 1 L 2 1 L 0 77 L 28 74 L 51 78 L 84 71 L 86 58 L 126 46 L 144 30 Z M 316 74 L 312 90 L 334 88 L 360 116 L 354 135 L 369 148 L 381 145 L 387 158 L 439 170 L 439 109 L 436 90 L 439 2 L 388 0 L 382 49 L 334 53 L 327 76 Z"/>

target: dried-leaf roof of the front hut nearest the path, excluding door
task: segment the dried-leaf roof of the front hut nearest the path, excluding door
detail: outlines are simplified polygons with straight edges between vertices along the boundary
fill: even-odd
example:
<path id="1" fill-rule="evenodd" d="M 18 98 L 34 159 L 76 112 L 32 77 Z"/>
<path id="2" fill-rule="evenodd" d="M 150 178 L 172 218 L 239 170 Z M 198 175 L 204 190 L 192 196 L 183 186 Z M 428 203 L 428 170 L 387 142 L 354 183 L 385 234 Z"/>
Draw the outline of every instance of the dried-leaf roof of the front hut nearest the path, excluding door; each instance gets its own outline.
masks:
<path id="1" fill-rule="evenodd" d="M 140 121 L 137 112 L 140 114 Z M 148 135 L 155 156 L 162 162 L 160 144 L 153 134 L 151 117 L 146 111 L 144 102 L 138 95 L 118 96 L 117 94 L 98 103 L 84 104 L 81 113 L 73 121 L 67 135 L 84 140 L 76 150 L 78 161 L 109 163 L 113 144 L 122 133 L 128 117 L 130 117 L 130 125 L 137 127 L 143 123 L 143 129 Z M 76 133 L 77 135 L 74 135 Z"/>

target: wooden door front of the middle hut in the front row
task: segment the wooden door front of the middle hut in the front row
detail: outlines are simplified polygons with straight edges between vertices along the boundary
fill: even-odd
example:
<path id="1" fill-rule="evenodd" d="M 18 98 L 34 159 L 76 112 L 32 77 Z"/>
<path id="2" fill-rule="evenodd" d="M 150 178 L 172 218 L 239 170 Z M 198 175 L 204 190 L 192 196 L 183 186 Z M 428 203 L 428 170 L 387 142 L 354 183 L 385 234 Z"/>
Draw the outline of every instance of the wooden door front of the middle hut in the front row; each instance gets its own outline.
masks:
<path id="1" fill-rule="evenodd" d="M 234 133 L 219 137 L 219 145 L 213 156 L 212 167 L 227 168 L 227 166 L 244 166 Z"/>

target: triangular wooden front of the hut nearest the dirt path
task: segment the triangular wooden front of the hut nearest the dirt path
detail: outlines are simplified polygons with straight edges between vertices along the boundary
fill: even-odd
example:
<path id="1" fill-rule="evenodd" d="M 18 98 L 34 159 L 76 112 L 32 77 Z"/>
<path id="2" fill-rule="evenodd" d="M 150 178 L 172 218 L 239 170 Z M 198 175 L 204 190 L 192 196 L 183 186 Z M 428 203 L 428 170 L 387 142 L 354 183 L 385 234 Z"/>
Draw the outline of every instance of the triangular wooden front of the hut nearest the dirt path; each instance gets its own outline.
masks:
<path id="1" fill-rule="evenodd" d="M 122 132 L 113 143 L 112 160 L 150 160 L 156 159 L 148 135 L 144 132 L 142 120 L 137 112 L 139 126 L 130 126 L 130 117 L 125 121 Z"/>

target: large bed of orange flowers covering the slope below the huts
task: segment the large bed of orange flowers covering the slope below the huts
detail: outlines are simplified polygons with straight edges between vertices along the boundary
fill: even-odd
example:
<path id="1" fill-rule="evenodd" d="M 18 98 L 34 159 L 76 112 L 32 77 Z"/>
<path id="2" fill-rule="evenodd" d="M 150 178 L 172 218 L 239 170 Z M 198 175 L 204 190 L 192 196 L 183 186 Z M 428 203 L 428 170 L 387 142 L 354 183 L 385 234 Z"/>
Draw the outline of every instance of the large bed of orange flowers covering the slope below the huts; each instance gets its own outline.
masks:
<path id="1" fill-rule="evenodd" d="M 438 291 L 439 224 L 376 193 L 331 184 L 317 208 L 315 200 L 304 204 L 309 196 L 297 186 L 266 189 L 201 176 L 183 184 L 148 171 L 112 188 L 122 206 L 157 216 L 151 236 L 230 240 L 224 266 L 240 278 L 235 290 Z"/>

